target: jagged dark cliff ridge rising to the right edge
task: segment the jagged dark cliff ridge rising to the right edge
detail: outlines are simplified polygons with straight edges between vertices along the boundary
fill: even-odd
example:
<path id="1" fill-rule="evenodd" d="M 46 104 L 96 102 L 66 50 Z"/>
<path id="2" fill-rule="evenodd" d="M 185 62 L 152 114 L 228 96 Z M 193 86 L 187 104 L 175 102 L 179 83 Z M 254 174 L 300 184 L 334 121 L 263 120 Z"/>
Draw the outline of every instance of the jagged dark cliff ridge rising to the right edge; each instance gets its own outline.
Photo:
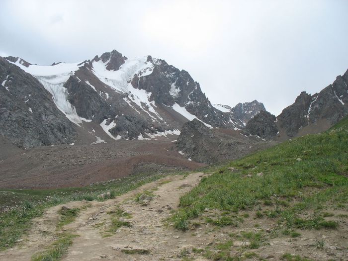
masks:
<path id="1" fill-rule="evenodd" d="M 295 102 L 277 117 L 278 126 L 288 137 L 305 128 L 327 122 L 337 123 L 348 114 L 348 71 L 338 76 L 332 85 L 313 95 L 303 91 Z"/>

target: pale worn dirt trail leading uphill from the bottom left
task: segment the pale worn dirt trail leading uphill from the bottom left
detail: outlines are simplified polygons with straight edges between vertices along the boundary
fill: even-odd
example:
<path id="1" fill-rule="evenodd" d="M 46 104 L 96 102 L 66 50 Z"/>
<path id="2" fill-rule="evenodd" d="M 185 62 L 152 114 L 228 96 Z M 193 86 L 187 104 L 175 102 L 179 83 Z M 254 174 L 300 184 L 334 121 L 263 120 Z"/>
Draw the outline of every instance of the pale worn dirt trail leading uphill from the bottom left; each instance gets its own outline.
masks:
<path id="1" fill-rule="evenodd" d="M 64 227 L 64 230 L 78 235 L 65 261 L 81 260 L 181 260 L 178 255 L 183 248 L 198 247 L 206 240 L 192 237 L 190 233 L 174 231 L 166 226 L 165 219 L 179 203 L 179 197 L 195 186 L 203 173 L 190 174 L 187 177 L 169 176 L 145 184 L 115 199 L 104 202 L 71 202 L 68 207 L 90 206 L 83 210 L 77 219 Z M 147 206 L 141 206 L 134 200 L 138 193 L 146 190 L 155 195 Z M 44 215 L 34 220 L 34 226 L 19 246 L 0 253 L 2 261 L 27 261 L 37 252 L 49 246 L 55 240 L 57 211 L 63 205 L 48 209 Z M 131 218 L 131 227 L 121 227 L 112 236 L 103 237 L 103 232 L 111 223 L 110 210 L 121 208 Z M 100 225 L 101 224 L 101 225 Z M 100 225 L 100 226 L 98 226 Z M 148 255 L 126 254 L 125 250 L 146 251 Z"/>

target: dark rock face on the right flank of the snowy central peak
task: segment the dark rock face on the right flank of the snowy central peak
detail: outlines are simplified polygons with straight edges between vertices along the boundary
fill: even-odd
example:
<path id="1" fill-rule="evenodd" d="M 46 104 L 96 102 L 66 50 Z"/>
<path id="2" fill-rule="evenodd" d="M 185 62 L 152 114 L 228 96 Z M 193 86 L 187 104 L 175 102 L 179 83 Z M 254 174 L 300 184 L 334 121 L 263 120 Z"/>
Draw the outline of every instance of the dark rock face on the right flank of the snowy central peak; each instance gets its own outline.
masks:
<path id="1" fill-rule="evenodd" d="M 188 72 L 168 65 L 165 60 L 151 56 L 148 61 L 154 64 L 152 74 L 142 77 L 136 75 L 131 84 L 138 89 L 151 92 L 151 100 L 173 106 L 175 103 L 214 127 L 232 127 L 227 114 L 215 109 Z"/>

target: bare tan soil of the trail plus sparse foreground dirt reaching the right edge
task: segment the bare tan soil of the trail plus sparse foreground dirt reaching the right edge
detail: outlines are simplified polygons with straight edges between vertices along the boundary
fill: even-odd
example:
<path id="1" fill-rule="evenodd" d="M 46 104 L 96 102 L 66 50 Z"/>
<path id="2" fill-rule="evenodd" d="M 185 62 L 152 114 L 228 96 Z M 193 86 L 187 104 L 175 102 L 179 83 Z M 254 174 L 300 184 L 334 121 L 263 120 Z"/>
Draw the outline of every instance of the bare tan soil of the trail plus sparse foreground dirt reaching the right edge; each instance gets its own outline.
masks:
<path id="1" fill-rule="evenodd" d="M 219 244 L 229 241 L 233 244 L 229 248 L 231 256 L 250 260 L 281 260 L 285 253 L 316 261 L 347 260 L 348 213 L 344 210 L 328 210 L 333 215 L 329 219 L 339 223 L 338 229 L 298 230 L 299 235 L 294 238 L 280 233 L 282 229 L 274 220 L 256 217 L 255 211 L 238 213 L 243 217 L 238 226 L 220 228 L 205 218 L 221 217 L 223 213 L 206 209 L 204 217 L 197 218 L 191 230 L 174 230 L 168 217 L 178 206 L 180 196 L 204 175 L 168 176 L 115 199 L 89 202 L 90 206 L 73 223 L 62 228 L 78 235 L 63 260 L 207 260 L 202 255 L 207 248 L 215 251 Z M 62 206 L 82 209 L 85 204 L 86 201 L 71 202 L 48 209 L 43 217 L 34 220 L 29 236 L 17 247 L 0 253 L 0 260 L 30 260 L 54 241 L 57 211 Z M 243 237 L 248 232 L 261 234 L 257 247 L 252 248 L 252 240 Z"/>

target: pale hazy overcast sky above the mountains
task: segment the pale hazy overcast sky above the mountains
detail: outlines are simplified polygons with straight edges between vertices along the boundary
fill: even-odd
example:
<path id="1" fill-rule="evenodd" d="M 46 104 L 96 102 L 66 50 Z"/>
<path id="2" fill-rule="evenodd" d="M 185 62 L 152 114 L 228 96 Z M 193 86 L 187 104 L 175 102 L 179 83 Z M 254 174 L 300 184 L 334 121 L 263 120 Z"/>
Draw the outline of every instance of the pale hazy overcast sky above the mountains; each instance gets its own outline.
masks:
<path id="1" fill-rule="evenodd" d="M 0 0 L 0 56 L 41 65 L 116 49 L 184 69 L 212 103 L 278 115 L 348 69 L 348 0 Z"/>

